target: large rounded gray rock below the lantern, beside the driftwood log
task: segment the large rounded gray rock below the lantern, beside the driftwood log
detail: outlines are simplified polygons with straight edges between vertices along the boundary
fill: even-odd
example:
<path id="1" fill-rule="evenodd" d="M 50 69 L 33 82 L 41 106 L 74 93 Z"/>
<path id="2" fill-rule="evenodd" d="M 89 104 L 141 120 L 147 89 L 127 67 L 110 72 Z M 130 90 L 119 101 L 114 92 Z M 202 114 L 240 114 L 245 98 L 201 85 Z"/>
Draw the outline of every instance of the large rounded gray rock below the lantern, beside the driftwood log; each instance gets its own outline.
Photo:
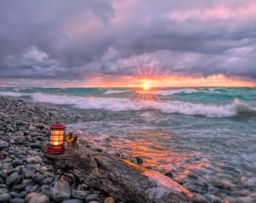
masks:
<path id="1" fill-rule="evenodd" d="M 63 201 L 71 197 L 71 189 L 67 180 L 57 180 L 52 189 L 50 196 L 55 201 Z"/>

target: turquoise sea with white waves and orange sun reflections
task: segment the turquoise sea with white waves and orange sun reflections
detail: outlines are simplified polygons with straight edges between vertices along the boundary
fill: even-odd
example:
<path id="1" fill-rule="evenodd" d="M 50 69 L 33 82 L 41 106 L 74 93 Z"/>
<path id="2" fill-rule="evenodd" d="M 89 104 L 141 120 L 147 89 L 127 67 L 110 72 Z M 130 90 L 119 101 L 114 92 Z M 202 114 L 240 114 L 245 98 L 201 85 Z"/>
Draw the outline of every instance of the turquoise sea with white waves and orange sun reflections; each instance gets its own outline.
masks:
<path id="1" fill-rule="evenodd" d="M 186 180 L 218 179 L 206 194 L 256 202 L 256 88 L 2 88 L 0 95 L 66 105 L 84 121 L 67 125 L 91 145 Z M 88 118 L 89 115 L 89 118 Z M 211 184 L 210 184 L 211 185 Z"/>

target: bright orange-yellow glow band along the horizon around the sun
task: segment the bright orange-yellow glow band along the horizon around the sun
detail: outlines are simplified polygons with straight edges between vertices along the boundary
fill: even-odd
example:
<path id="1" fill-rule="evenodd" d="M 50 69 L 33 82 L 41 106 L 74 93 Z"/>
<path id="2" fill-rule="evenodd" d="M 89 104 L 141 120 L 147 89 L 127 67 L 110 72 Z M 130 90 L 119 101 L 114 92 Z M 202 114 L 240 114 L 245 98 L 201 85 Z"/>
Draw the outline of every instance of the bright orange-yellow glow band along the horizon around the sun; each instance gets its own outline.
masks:
<path id="1" fill-rule="evenodd" d="M 113 76 L 110 76 L 113 77 Z M 256 81 L 242 77 L 226 77 L 224 74 L 214 74 L 209 77 L 191 76 L 118 76 L 114 79 L 108 76 L 97 77 L 97 80 L 87 84 L 87 87 L 138 87 L 147 92 L 154 87 L 192 87 L 192 86 L 256 86 Z M 148 90 L 143 86 L 151 86 Z M 148 88 L 147 87 L 147 88 Z"/>

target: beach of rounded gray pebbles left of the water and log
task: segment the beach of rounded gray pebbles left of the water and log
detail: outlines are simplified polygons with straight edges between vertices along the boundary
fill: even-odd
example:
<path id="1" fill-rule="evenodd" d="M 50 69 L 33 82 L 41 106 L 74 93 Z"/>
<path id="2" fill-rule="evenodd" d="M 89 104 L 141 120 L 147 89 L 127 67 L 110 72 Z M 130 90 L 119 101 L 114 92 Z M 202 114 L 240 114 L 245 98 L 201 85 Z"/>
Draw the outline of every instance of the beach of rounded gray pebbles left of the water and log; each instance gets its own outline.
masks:
<path id="1" fill-rule="evenodd" d="M 0 96 L 0 102 L 0 202 L 32 203 L 41 198 L 43 201 L 37 202 L 56 202 L 57 197 L 51 191 L 60 181 L 59 177 L 74 176 L 56 173 L 53 166 L 47 164 L 41 146 L 49 142 L 51 124 L 59 122 L 59 118 L 61 123 L 76 123 L 79 116 L 67 114 L 64 108 L 56 105 L 23 101 L 22 98 Z M 57 194 L 60 190 L 63 189 Z M 59 202 L 123 202 L 83 184 L 74 188 L 68 183 L 66 190 L 72 194 L 62 194 L 67 196 Z"/>

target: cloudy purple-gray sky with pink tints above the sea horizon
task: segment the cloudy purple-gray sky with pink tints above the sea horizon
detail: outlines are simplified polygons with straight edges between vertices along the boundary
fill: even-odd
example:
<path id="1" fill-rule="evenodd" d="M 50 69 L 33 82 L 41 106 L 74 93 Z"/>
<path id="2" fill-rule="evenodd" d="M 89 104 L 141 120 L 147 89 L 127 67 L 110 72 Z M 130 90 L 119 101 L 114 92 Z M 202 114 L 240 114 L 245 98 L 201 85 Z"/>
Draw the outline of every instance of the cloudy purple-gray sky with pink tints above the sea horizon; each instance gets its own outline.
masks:
<path id="1" fill-rule="evenodd" d="M 0 86 L 256 86 L 254 0 L 2 0 Z"/>

